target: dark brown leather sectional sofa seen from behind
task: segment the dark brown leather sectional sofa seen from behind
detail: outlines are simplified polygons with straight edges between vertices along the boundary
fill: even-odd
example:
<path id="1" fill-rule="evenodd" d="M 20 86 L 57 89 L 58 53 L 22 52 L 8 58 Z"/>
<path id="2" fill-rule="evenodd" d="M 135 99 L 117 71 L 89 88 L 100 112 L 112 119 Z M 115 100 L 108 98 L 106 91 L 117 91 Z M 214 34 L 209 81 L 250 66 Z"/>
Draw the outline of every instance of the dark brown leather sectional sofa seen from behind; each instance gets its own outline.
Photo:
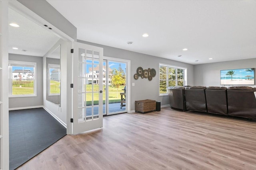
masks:
<path id="1" fill-rule="evenodd" d="M 167 91 L 174 109 L 256 120 L 256 88 L 170 86 Z"/>

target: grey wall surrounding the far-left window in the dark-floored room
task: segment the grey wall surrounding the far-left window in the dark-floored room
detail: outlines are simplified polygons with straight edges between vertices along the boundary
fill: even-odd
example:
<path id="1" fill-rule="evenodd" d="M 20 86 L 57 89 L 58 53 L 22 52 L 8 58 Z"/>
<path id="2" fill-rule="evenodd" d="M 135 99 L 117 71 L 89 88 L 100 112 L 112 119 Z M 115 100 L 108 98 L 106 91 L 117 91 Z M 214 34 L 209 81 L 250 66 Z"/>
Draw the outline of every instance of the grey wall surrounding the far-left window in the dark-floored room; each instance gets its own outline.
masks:
<path id="1" fill-rule="evenodd" d="M 29 55 L 9 54 L 9 60 L 36 63 L 36 97 L 9 98 L 9 109 L 43 105 L 43 58 Z M 7 73 L 8 74 L 8 73 Z"/>

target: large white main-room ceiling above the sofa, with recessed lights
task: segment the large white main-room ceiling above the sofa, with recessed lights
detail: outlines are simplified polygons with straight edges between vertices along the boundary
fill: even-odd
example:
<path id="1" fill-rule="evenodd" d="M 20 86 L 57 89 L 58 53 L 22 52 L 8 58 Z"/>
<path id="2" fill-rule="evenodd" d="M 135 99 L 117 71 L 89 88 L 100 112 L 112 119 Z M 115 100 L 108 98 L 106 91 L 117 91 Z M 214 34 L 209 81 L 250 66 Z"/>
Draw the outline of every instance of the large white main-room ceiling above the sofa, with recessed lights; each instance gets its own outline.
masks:
<path id="1" fill-rule="evenodd" d="M 253 0 L 47 1 L 77 27 L 80 40 L 190 64 L 256 57 Z"/>

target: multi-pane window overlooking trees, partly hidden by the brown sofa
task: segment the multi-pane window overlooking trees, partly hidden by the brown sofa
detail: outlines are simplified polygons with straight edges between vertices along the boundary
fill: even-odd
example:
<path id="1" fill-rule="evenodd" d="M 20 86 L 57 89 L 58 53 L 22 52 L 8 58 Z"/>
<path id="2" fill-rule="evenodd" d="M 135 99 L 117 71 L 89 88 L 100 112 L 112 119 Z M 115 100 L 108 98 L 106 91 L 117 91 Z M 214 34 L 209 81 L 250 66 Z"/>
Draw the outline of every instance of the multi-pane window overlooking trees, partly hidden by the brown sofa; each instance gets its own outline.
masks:
<path id="1" fill-rule="evenodd" d="M 186 68 L 159 64 L 159 94 L 166 95 L 168 86 L 184 86 Z"/>

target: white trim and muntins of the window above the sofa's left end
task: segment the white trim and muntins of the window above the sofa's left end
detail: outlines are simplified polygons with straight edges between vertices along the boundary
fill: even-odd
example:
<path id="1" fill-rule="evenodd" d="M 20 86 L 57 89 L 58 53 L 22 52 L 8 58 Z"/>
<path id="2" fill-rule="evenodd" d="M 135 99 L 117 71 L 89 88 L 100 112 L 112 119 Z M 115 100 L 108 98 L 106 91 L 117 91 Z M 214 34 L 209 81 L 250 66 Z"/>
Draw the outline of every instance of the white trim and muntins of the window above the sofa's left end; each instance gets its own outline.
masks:
<path id="1" fill-rule="evenodd" d="M 166 67 L 166 72 L 165 72 L 166 78 L 164 78 L 164 79 L 161 79 L 160 67 Z M 169 71 L 168 71 L 169 69 L 168 68 L 174 68 L 175 69 L 174 79 L 170 78 Z M 186 67 L 174 66 L 174 65 L 159 63 L 159 69 L 158 69 L 159 70 L 159 89 L 158 89 L 159 96 L 167 96 L 168 95 L 167 90 L 166 90 L 166 93 L 161 93 L 160 92 L 160 89 L 161 89 L 160 82 L 161 81 L 162 82 L 165 81 L 165 86 L 166 87 L 164 87 L 164 89 L 165 88 L 167 89 L 168 86 L 172 86 L 172 85 L 169 84 L 170 81 L 174 81 L 175 82 L 175 86 L 178 86 L 178 81 L 179 81 L 179 79 L 178 79 L 178 72 L 177 72 L 178 69 L 182 69 L 183 70 L 183 74 L 181 74 L 183 76 L 183 79 L 180 79 L 180 80 L 184 82 L 183 86 L 185 86 L 185 85 L 187 85 L 187 68 Z"/>

